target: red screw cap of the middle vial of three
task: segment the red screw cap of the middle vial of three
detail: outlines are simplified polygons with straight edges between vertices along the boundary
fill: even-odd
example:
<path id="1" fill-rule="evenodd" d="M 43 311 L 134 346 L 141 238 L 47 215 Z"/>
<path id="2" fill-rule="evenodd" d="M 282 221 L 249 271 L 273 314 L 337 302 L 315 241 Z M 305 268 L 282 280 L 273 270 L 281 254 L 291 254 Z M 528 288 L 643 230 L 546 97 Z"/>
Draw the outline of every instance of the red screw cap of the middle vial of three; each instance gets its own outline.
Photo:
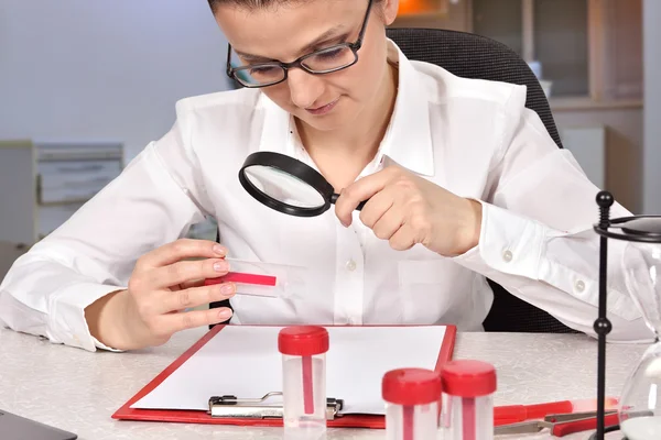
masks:
<path id="1" fill-rule="evenodd" d="M 395 405 L 425 405 L 441 402 L 441 374 L 424 369 L 399 369 L 383 375 L 383 400 Z"/>

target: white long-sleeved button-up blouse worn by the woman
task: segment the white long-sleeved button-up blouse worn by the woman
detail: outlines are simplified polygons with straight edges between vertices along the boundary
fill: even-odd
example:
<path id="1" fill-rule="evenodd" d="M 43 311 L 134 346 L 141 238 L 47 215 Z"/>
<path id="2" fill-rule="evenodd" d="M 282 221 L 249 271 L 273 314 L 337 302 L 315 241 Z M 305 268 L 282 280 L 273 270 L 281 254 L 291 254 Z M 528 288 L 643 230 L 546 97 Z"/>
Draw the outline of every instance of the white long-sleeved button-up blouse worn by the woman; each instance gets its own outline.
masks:
<path id="1" fill-rule="evenodd" d="M 142 254 L 183 237 L 207 216 L 229 256 L 304 266 L 304 298 L 237 295 L 231 322 L 432 324 L 483 329 L 492 293 L 486 277 L 565 324 L 594 336 L 598 299 L 596 188 L 524 107 L 525 88 L 399 64 L 394 112 L 361 173 L 391 162 L 483 202 L 479 244 L 443 257 L 422 245 L 394 251 L 355 212 L 349 228 L 330 209 L 316 218 L 274 211 L 238 180 L 246 156 L 284 153 L 312 165 L 289 113 L 260 90 L 183 99 L 176 123 L 61 228 L 20 257 L 0 285 L 0 323 L 94 351 L 84 309 L 126 288 Z M 613 216 L 628 212 L 619 205 Z M 610 241 L 609 341 L 648 341 Z"/>

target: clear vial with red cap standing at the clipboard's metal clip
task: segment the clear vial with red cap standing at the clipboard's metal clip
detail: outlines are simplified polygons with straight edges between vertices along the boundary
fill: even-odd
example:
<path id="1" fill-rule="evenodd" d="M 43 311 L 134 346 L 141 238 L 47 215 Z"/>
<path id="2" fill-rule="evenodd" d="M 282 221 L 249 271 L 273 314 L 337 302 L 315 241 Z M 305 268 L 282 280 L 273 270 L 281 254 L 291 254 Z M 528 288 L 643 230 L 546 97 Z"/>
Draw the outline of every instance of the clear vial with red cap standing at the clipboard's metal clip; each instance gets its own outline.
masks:
<path id="1" fill-rule="evenodd" d="M 278 336 L 282 353 L 284 439 L 326 438 L 326 352 L 328 331 L 294 326 Z"/>

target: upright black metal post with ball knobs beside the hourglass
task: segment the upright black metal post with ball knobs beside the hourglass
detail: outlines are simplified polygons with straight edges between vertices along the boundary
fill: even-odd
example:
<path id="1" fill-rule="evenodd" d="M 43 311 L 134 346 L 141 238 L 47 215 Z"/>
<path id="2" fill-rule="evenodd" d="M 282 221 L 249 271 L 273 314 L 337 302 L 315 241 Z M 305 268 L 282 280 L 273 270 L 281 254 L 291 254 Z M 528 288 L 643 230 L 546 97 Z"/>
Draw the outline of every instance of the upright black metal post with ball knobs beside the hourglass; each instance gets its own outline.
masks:
<path id="1" fill-rule="evenodd" d="M 599 224 L 602 231 L 608 231 L 610 226 L 610 207 L 614 199 L 610 193 L 600 191 L 597 195 L 599 206 Z M 595 320 L 594 329 L 598 336 L 597 359 L 597 432 L 596 440 L 604 440 L 605 436 L 605 405 L 606 405 L 606 336 L 613 330 L 613 324 L 606 316 L 607 274 L 608 267 L 608 238 L 600 235 L 599 243 L 599 316 Z"/>

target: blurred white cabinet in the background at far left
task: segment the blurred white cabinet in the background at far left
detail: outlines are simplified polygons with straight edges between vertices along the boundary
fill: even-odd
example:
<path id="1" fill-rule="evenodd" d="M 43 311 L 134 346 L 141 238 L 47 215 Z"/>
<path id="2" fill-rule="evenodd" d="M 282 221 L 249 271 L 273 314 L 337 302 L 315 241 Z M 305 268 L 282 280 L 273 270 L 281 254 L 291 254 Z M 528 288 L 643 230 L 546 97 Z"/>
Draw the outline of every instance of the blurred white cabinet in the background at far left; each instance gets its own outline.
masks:
<path id="1" fill-rule="evenodd" d="M 122 167 L 121 143 L 0 141 L 0 241 L 34 244 Z"/>

